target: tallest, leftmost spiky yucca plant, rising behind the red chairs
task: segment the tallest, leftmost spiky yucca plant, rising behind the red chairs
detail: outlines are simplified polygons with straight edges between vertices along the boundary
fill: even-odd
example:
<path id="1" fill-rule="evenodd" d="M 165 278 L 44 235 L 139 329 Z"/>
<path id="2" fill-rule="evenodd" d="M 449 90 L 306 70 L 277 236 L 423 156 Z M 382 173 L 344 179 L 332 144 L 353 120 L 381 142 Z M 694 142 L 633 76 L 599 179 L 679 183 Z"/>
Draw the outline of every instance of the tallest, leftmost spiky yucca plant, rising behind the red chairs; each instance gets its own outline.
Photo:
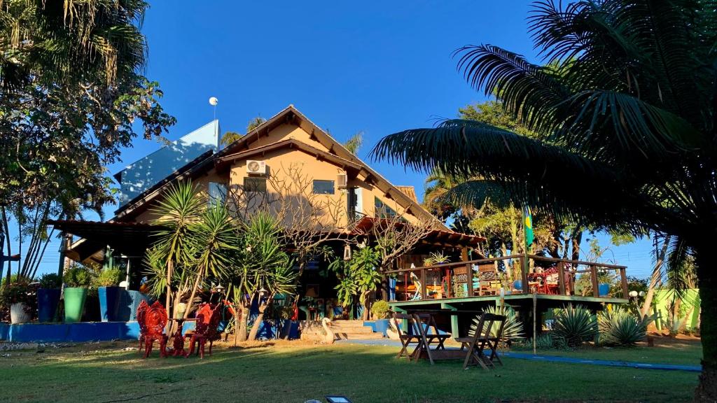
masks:
<path id="1" fill-rule="evenodd" d="M 160 229 L 155 233 L 158 242 L 148 251 L 147 258 L 151 262 L 161 260 L 166 264 L 167 312 L 172 312 L 171 283 L 175 278 L 174 268 L 177 265 L 187 267 L 194 259 L 195 245 L 191 243 L 189 227 L 199 220 L 203 207 L 204 200 L 199 196 L 199 189 L 191 181 L 186 181 L 170 186 L 164 199 L 153 209 L 157 218 L 151 224 Z"/>

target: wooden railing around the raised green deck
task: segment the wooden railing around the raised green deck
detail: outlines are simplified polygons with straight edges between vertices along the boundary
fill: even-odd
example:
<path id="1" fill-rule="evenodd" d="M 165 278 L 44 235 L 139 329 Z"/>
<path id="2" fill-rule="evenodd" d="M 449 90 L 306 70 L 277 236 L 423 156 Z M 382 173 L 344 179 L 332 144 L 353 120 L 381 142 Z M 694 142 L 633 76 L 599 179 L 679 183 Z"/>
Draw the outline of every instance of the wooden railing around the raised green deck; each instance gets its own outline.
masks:
<path id="1" fill-rule="evenodd" d="M 396 300 L 538 293 L 627 298 L 627 267 L 536 255 L 510 255 L 386 272 Z"/>

